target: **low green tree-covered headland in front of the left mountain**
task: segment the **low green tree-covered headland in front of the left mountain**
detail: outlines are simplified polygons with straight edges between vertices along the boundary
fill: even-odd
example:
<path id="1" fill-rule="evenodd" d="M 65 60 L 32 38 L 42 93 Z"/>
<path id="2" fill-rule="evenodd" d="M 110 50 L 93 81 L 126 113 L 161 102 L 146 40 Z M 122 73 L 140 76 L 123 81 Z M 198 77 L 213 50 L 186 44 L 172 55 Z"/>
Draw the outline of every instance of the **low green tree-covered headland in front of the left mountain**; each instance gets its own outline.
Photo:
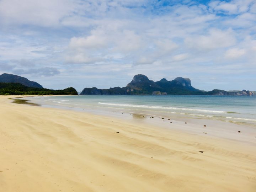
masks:
<path id="1" fill-rule="evenodd" d="M 63 90 L 27 87 L 19 83 L 0 82 L 0 95 L 78 95 L 78 92 L 69 87 Z"/>

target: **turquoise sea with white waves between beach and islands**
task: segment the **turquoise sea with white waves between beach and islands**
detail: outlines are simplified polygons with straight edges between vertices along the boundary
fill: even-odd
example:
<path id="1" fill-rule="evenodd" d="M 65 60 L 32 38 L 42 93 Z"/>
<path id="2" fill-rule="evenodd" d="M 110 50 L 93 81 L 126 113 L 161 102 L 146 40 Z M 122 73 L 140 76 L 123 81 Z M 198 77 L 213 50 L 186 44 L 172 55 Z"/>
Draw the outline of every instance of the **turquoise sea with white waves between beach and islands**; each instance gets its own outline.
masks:
<path id="1" fill-rule="evenodd" d="M 31 100 L 44 106 L 219 119 L 256 126 L 254 96 L 79 95 L 33 97 Z"/>

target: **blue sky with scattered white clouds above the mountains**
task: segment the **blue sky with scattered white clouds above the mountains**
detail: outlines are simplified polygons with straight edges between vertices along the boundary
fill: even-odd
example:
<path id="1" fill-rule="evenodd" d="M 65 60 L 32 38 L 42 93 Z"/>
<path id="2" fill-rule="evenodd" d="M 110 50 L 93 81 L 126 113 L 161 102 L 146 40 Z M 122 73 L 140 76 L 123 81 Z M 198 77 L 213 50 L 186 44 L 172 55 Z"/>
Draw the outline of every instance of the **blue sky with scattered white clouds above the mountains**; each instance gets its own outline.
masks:
<path id="1" fill-rule="evenodd" d="M 0 74 L 45 88 L 190 78 L 256 91 L 256 0 L 0 0 Z"/>

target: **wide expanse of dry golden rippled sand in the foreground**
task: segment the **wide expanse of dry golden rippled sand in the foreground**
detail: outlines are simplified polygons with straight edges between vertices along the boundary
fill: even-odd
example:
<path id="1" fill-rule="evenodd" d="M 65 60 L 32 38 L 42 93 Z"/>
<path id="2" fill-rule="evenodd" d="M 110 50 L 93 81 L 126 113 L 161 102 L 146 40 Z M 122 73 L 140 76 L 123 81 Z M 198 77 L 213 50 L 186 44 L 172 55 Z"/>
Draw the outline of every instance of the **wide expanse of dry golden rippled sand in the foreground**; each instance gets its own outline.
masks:
<path id="1" fill-rule="evenodd" d="M 225 139 L 10 97 L 0 96 L 0 191 L 256 191 L 253 131 Z"/>

